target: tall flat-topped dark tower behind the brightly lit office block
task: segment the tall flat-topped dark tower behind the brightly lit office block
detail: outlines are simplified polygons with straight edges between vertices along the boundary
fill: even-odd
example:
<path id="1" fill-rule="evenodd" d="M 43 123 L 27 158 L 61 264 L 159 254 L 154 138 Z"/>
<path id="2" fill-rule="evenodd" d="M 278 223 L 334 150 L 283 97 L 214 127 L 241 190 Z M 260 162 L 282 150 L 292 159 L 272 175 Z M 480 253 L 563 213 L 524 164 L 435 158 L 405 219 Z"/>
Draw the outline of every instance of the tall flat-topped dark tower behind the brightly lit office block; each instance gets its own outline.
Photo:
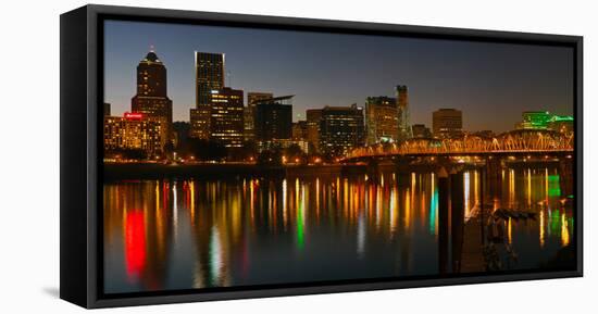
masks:
<path id="1" fill-rule="evenodd" d="M 195 52 L 196 108 L 190 110 L 190 137 L 209 139 L 212 90 L 224 88 L 224 53 Z"/>

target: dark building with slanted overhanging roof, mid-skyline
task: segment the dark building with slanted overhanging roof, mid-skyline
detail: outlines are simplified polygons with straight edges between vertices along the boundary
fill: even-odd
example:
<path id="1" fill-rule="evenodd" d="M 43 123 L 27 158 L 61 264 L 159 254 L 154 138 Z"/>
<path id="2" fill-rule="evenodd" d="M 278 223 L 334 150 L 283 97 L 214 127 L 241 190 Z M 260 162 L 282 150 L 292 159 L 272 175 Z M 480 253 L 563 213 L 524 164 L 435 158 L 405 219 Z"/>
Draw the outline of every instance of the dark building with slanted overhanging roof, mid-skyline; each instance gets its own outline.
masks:
<path id="1" fill-rule="evenodd" d="M 292 135 L 292 96 L 257 101 L 256 140 L 267 142 L 290 139 Z"/>

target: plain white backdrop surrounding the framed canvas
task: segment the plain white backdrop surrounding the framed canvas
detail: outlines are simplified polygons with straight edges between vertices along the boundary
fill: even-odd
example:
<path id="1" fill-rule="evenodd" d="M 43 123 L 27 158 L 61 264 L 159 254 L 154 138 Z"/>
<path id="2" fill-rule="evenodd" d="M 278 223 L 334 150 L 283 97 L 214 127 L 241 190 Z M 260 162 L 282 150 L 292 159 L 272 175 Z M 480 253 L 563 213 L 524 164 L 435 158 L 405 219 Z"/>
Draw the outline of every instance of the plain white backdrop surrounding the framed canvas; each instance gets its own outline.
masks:
<path id="1" fill-rule="evenodd" d="M 598 127 L 595 1 L 97 1 L 213 12 L 451 26 L 584 36 L 585 152 Z M 83 1 L 2 1 L 0 16 L 0 312 L 75 313 L 59 289 L 59 14 Z M 585 164 L 585 277 L 226 302 L 138 306 L 115 313 L 588 313 L 598 291 L 589 200 L 596 164 Z M 82 209 L 83 210 L 83 209 Z M 594 309 L 593 309 L 594 307 Z"/>

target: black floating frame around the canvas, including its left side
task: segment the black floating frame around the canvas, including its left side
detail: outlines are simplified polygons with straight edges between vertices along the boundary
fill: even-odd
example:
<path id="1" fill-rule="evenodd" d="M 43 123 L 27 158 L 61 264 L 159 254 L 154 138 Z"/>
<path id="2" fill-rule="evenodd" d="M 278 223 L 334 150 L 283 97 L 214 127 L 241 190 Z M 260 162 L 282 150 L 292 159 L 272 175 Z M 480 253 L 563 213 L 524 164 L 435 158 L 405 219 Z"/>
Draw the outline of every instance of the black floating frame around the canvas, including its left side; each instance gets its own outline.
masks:
<path id="1" fill-rule="evenodd" d="M 225 25 L 340 34 L 566 46 L 574 49 L 574 206 L 576 269 L 459 275 L 443 278 L 347 280 L 105 296 L 102 282 L 102 106 L 104 20 Z M 60 17 L 60 298 L 84 307 L 109 307 L 377 289 L 415 288 L 583 276 L 583 37 L 86 5 Z"/>

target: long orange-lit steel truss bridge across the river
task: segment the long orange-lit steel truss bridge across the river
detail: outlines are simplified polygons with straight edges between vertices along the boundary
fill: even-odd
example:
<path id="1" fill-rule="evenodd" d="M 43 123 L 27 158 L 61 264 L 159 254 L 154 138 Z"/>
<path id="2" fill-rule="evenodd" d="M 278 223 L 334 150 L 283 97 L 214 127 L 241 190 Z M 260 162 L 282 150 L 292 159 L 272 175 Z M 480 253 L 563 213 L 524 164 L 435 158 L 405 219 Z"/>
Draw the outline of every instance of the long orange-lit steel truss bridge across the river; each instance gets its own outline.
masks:
<path id="1" fill-rule="evenodd" d="M 403 143 L 379 143 L 352 150 L 344 161 L 388 156 L 571 154 L 573 133 L 512 130 L 496 137 L 463 136 L 453 139 L 414 138 Z"/>

